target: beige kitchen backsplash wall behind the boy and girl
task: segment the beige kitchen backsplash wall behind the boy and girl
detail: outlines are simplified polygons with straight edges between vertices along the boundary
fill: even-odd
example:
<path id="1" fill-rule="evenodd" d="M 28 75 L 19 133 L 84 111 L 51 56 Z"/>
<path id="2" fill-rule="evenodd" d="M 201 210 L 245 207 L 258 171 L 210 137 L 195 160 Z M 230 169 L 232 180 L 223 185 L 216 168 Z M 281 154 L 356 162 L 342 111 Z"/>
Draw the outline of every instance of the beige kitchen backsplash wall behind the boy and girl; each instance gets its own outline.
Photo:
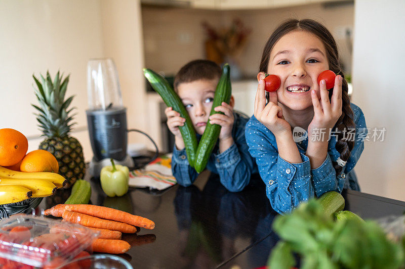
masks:
<path id="1" fill-rule="evenodd" d="M 274 28 L 289 18 L 312 18 L 325 24 L 335 35 L 341 50 L 346 72 L 351 72 L 351 44 L 344 39 L 344 29 L 353 30 L 353 4 L 339 6 L 313 4 L 291 8 L 215 11 L 181 8 L 142 7 L 145 64 L 166 74 L 175 74 L 190 60 L 205 58 L 206 34 L 201 22 L 207 21 L 216 29 L 229 27 L 234 18 L 252 29 L 240 58 L 245 77 L 255 78 L 261 53 Z"/>

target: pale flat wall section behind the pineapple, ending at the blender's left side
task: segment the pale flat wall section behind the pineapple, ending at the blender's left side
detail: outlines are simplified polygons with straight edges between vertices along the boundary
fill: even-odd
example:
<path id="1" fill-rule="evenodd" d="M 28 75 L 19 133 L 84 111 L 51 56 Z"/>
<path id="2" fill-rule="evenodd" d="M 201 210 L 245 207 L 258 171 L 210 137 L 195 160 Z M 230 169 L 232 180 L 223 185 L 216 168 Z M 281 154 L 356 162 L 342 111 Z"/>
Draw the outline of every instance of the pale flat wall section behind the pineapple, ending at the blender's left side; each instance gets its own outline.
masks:
<path id="1" fill-rule="evenodd" d="M 29 138 L 29 151 L 43 139 L 36 127 L 32 104 L 38 104 L 32 74 L 70 74 L 67 96 L 76 95 L 76 132 L 72 135 L 91 157 L 86 131 L 86 65 L 90 58 L 104 56 L 100 2 L 2 1 L 0 3 L 0 128 L 17 129 Z"/>

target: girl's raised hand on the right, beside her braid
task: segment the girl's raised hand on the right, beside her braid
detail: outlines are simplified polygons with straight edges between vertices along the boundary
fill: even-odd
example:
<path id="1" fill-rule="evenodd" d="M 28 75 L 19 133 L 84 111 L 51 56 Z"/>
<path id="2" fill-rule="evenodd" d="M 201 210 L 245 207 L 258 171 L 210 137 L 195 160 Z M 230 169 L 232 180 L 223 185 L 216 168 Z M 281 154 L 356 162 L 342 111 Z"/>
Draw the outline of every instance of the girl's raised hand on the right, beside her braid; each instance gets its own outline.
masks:
<path id="1" fill-rule="evenodd" d="M 320 81 L 319 90 L 320 102 L 316 91 L 311 90 L 314 117 L 308 126 L 308 141 L 311 141 L 311 138 L 312 141 L 321 141 L 314 137 L 320 135 L 321 131 L 325 132 L 327 135 L 325 138 L 328 141 L 331 129 L 342 115 L 342 76 L 338 75 L 335 78 L 331 102 L 329 102 L 329 91 L 326 89 L 325 80 Z"/>

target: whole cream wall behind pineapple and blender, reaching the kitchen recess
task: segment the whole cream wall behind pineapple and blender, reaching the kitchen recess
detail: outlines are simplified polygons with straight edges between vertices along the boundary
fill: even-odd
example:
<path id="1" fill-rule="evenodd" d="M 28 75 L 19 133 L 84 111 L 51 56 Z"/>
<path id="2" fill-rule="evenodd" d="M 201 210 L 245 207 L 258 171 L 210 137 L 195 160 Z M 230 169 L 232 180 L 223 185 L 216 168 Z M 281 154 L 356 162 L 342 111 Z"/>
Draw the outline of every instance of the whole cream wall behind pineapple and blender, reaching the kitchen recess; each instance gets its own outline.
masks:
<path id="1" fill-rule="evenodd" d="M 128 126 L 145 130 L 143 52 L 138 0 L 36 0 L 0 2 L 0 128 L 14 128 L 29 138 L 29 151 L 43 138 L 37 130 L 32 74 L 58 70 L 70 74 L 67 96 L 76 95 L 72 136 L 92 157 L 87 132 L 87 61 L 112 57 L 118 69 Z M 147 131 L 147 130 L 146 130 Z M 130 142 L 144 142 L 130 134 Z"/>

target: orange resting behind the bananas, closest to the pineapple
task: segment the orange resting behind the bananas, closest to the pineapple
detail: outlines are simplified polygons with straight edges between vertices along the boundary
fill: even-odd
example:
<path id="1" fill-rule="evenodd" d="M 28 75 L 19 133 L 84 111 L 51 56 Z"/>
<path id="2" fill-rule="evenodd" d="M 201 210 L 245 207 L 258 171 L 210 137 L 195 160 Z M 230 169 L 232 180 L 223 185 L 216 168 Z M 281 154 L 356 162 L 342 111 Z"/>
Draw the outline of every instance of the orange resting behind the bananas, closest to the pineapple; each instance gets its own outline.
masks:
<path id="1" fill-rule="evenodd" d="M 53 172 L 58 173 L 59 165 L 55 156 L 44 149 L 29 152 L 22 159 L 21 172 Z"/>

